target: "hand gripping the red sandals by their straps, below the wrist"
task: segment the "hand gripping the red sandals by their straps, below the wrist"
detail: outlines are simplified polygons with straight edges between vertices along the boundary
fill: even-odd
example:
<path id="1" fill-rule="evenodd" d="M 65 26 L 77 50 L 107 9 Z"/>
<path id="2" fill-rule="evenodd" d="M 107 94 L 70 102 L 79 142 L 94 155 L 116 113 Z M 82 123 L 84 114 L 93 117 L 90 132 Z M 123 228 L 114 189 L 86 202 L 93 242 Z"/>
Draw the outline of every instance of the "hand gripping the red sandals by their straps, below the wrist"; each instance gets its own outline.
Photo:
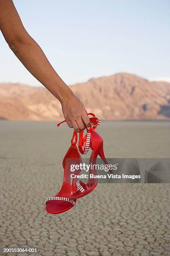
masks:
<path id="1" fill-rule="evenodd" d="M 80 132 L 90 126 L 90 119 L 82 102 L 72 93 L 71 97 L 61 101 L 62 113 L 67 125 Z"/>

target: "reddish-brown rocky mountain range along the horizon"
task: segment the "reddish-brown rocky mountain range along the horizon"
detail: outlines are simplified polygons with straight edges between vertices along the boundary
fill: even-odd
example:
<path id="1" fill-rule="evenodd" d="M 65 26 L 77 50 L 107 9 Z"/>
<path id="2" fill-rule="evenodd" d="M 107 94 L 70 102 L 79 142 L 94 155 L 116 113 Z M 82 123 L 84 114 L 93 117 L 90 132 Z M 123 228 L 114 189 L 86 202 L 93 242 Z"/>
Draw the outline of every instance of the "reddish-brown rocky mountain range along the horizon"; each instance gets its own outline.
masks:
<path id="1" fill-rule="evenodd" d="M 70 87 L 87 112 L 103 120 L 170 120 L 170 83 L 134 74 L 91 78 Z M 62 120 L 60 102 L 44 87 L 0 84 L 0 119 Z"/>

